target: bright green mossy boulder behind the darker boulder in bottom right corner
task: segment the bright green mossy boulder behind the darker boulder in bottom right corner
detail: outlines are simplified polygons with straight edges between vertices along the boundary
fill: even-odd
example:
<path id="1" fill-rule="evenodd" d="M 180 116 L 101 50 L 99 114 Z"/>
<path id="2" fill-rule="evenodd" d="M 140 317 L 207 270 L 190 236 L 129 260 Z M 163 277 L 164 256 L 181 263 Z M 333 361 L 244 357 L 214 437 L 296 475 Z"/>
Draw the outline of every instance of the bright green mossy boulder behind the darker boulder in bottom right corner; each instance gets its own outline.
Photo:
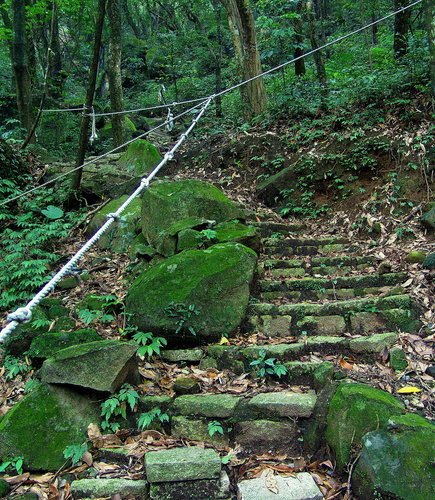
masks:
<path id="1" fill-rule="evenodd" d="M 387 426 L 391 416 L 404 412 L 403 404 L 387 392 L 364 384 L 343 382 L 333 395 L 326 427 L 326 441 L 344 470 L 352 450 L 367 432 Z"/>

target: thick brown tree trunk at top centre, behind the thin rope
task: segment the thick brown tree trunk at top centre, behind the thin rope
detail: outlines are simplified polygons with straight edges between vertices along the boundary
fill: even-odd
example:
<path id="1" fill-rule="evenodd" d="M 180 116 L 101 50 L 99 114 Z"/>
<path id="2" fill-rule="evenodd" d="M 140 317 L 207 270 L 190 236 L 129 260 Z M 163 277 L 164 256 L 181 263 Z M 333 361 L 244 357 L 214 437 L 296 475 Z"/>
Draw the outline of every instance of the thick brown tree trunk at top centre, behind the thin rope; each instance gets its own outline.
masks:
<path id="1" fill-rule="evenodd" d="M 228 24 L 236 58 L 243 80 L 261 74 L 260 54 L 257 47 L 254 16 L 249 0 L 222 0 L 228 13 Z M 247 119 L 263 113 L 267 97 L 263 78 L 257 78 L 240 87 Z"/>

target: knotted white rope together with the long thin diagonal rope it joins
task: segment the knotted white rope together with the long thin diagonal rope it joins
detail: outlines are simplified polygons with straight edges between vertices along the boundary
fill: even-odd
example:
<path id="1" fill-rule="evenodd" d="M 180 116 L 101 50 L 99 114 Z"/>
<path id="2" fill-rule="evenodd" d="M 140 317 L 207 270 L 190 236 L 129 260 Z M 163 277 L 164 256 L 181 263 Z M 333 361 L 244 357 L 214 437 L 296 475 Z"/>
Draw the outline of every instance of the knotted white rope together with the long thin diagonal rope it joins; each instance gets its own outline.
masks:
<path id="1" fill-rule="evenodd" d="M 338 39 L 334 40 L 334 41 L 331 41 L 325 45 L 323 45 L 322 47 L 319 47 L 317 49 L 314 49 L 306 54 L 303 54 L 299 57 L 296 57 L 294 59 L 292 59 L 291 61 L 288 61 L 286 63 L 283 63 L 273 69 L 270 69 L 268 71 L 265 71 L 263 72 L 262 74 L 260 75 L 257 75 L 253 78 L 250 78 L 248 80 L 245 80 L 244 82 L 241 82 L 237 85 L 234 85 L 233 87 L 230 87 L 229 89 L 226 89 L 226 90 L 223 90 L 217 94 L 213 94 L 213 95 L 210 95 L 208 96 L 207 98 L 205 98 L 203 101 L 202 101 L 202 106 L 201 106 L 201 110 L 200 112 L 197 114 L 197 116 L 193 119 L 192 123 L 190 124 L 190 126 L 188 127 L 188 129 L 186 130 L 186 132 L 184 132 L 183 134 L 181 134 L 179 140 L 176 142 L 176 144 L 172 147 L 171 150 L 169 150 L 163 157 L 163 160 L 153 169 L 153 171 L 147 176 L 147 177 L 143 177 L 140 181 L 140 184 L 139 186 L 137 187 L 137 189 L 129 196 L 129 198 L 118 208 L 118 210 L 116 212 L 114 212 L 113 214 L 109 214 L 107 216 L 107 221 L 103 224 L 103 226 L 100 227 L 100 229 L 80 248 L 80 250 L 78 250 L 74 255 L 73 257 L 51 278 L 51 280 L 33 297 L 33 299 L 28 302 L 28 304 L 22 308 L 19 308 L 17 309 L 15 312 L 11 313 L 8 315 L 7 317 L 7 325 L 0 331 L 0 344 L 4 342 L 4 340 L 6 339 L 6 337 L 15 330 L 15 328 L 20 324 L 20 323 L 26 323 L 28 321 L 31 320 L 31 317 L 32 317 L 32 309 L 35 308 L 49 293 L 51 293 L 54 288 L 56 287 L 57 283 L 75 266 L 75 264 L 86 254 L 86 252 L 101 238 L 101 236 L 109 229 L 109 227 L 117 220 L 119 220 L 119 217 L 120 215 L 123 213 L 123 211 L 127 208 L 127 206 L 142 192 L 144 191 L 145 189 L 147 189 L 149 187 L 149 184 L 151 182 L 151 180 L 157 175 L 157 173 L 163 168 L 164 165 L 166 165 L 166 163 L 170 160 L 172 160 L 172 158 L 174 157 L 174 154 L 175 152 L 178 150 L 178 148 L 183 144 L 183 142 L 187 139 L 188 135 L 191 133 L 191 131 L 195 128 L 195 126 L 197 125 L 198 121 L 202 118 L 202 116 L 204 115 L 204 113 L 206 112 L 207 108 L 210 106 L 211 102 L 214 101 L 217 97 L 221 96 L 221 95 L 224 95 L 228 92 L 231 92 L 239 87 L 241 87 L 242 85 L 245 85 L 251 81 L 254 81 L 258 78 L 261 78 L 262 76 L 265 76 L 267 74 L 270 74 L 272 71 L 276 71 L 278 69 L 281 69 L 285 66 L 288 66 L 289 64 L 303 58 L 303 57 L 307 57 L 315 52 L 318 52 L 319 50 L 322 50 L 324 49 L 325 47 L 329 47 L 330 45 L 334 44 L 334 43 L 337 43 L 339 41 L 342 41 L 342 40 L 345 40 L 346 38 L 349 38 L 350 36 L 356 34 L 356 33 L 360 33 L 361 31 L 371 27 L 371 26 L 374 26 L 375 24 L 377 23 L 380 23 L 382 21 L 385 21 L 386 19 L 389 19 L 391 18 L 392 16 L 400 13 L 400 12 L 403 12 L 404 10 L 407 10 L 419 3 L 421 3 L 422 0 L 416 0 L 415 2 L 411 3 L 410 5 L 406 6 L 406 7 L 402 7 L 401 9 L 398 9 L 397 11 L 391 13 L 391 14 L 388 14 L 387 16 L 384 16 L 383 18 L 381 19 L 378 19 L 377 21 L 374 21 L 362 28 L 359 28 L 357 30 L 354 30 L 352 33 L 349 33 L 347 35 L 344 35 L 342 37 L 339 37 Z M 192 111 L 193 109 L 199 107 L 200 105 L 197 104 L 196 106 L 193 106 L 191 109 L 189 110 L 186 110 L 184 111 L 183 113 L 180 113 L 177 117 L 171 117 L 170 119 L 171 120 L 174 120 L 176 118 L 179 118 L 181 116 L 183 116 L 184 114 L 187 114 L 189 113 L 190 111 Z M 167 106 L 166 106 L 167 107 Z M 168 122 L 169 118 L 163 122 L 161 125 L 159 125 L 158 127 L 156 127 L 155 129 L 157 128 L 160 128 L 162 126 L 164 126 L 166 124 L 166 122 Z M 90 163 L 94 163 L 95 161 L 97 161 L 98 159 L 100 158 L 103 158 L 115 151 L 118 151 L 119 149 L 121 149 L 122 147 L 128 145 L 128 144 L 131 144 L 132 142 L 140 139 L 141 137 L 147 135 L 148 133 L 150 133 L 151 131 L 148 131 L 148 132 L 145 132 L 144 134 L 141 134 L 141 136 L 139 137 L 136 137 L 130 141 L 128 141 L 127 143 L 121 145 L 121 146 L 118 146 L 117 148 L 115 148 L 114 150 L 108 152 L 108 153 L 105 153 L 103 155 L 101 155 L 100 157 L 97 157 L 93 160 L 91 160 L 90 162 L 88 162 L 87 164 L 90 164 Z M 80 167 L 76 167 L 76 169 L 74 170 L 77 170 L 79 168 L 83 168 L 86 164 L 83 164 L 81 165 Z M 66 175 L 68 175 L 69 173 L 71 173 L 73 170 L 71 170 L 70 172 L 68 172 Z M 39 187 L 42 187 L 41 186 L 38 186 Z M 35 190 L 35 189 L 33 189 Z M 31 190 L 32 191 L 32 190 Z M 31 191 L 28 191 L 24 194 L 28 194 L 29 192 Z M 24 195 L 23 194 L 23 195 Z M 19 196 L 21 197 L 21 196 Z M 16 199 L 16 198 L 15 198 Z M 10 202 L 12 201 L 12 198 L 7 200 L 7 202 Z M 4 205 L 5 203 L 1 203 L 0 206 Z"/>

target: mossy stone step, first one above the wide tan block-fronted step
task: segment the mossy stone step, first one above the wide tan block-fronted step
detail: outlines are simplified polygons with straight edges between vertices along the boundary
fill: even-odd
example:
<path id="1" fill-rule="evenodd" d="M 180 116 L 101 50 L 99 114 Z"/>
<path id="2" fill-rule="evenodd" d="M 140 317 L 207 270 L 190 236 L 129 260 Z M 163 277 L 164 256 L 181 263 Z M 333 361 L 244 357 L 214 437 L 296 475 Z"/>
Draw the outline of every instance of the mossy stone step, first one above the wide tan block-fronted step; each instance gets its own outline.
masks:
<path id="1" fill-rule="evenodd" d="M 376 293 L 375 288 L 392 287 L 406 280 L 406 273 L 368 274 L 330 278 L 289 278 L 281 281 L 261 280 L 263 297 L 322 300 L 324 298 L 353 298 Z M 338 294 L 338 291 L 346 293 Z M 328 294 L 328 291 L 331 293 Z M 387 290 L 384 290 L 387 292 Z M 273 293 L 267 296 L 264 292 Z M 382 293 L 382 292 L 381 292 Z M 398 292 L 396 292 L 398 294 Z"/>

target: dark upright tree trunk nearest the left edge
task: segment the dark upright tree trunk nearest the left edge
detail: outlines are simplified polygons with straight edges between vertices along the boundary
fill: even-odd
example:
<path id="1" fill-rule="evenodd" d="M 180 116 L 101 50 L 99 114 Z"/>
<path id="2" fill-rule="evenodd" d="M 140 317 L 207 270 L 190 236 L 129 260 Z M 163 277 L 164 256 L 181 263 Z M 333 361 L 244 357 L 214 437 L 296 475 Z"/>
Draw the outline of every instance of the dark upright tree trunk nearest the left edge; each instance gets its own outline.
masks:
<path id="1" fill-rule="evenodd" d="M 32 93 L 27 51 L 25 7 L 23 0 L 12 1 L 14 29 L 12 49 L 18 115 L 21 126 L 29 132 L 32 127 Z"/>

